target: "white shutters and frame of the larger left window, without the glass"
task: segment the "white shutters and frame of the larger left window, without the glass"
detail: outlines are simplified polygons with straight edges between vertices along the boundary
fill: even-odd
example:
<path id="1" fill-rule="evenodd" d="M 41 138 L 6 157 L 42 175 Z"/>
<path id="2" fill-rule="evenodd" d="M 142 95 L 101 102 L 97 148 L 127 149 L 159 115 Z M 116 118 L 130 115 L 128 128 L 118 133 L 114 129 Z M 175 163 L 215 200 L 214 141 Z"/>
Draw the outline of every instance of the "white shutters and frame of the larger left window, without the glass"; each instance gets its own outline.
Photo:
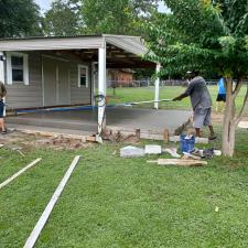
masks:
<path id="1" fill-rule="evenodd" d="M 12 79 L 12 65 L 11 65 L 11 57 L 18 56 L 23 57 L 23 82 L 13 82 Z M 24 53 L 18 53 L 18 52 L 8 52 L 7 53 L 7 84 L 24 84 L 29 85 L 29 55 Z"/>

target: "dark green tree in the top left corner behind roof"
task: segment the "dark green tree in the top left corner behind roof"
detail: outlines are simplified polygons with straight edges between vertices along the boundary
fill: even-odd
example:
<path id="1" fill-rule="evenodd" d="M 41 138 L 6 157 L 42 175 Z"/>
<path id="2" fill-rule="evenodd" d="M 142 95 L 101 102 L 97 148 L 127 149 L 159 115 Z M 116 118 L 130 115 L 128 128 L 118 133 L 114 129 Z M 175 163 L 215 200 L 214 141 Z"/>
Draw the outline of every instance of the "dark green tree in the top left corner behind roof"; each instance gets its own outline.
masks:
<path id="1" fill-rule="evenodd" d="M 41 34 L 40 9 L 33 0 L 0 0 L 0 37 Z"/>

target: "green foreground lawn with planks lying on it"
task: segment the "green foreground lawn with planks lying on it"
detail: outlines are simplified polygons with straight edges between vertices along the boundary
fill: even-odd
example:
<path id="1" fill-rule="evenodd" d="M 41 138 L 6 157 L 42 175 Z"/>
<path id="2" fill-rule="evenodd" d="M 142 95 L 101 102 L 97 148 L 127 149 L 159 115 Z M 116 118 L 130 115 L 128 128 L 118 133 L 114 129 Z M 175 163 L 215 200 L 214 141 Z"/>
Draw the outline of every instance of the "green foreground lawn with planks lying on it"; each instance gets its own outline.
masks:
<path id="1" fill-rule="evenodd" d="M 0 247 L 23 247 L 76 154 L 83 159 L 35 247 L 248 247 L 247 136 L 238 131 L 234 159 L 191 169 L 147 163 L 158 157 L 121 159 L 115 143 L 78 151 L 33 148 L 25 158 L 0 149 L 0 182 L 43 158 L 0 190 Z"/>

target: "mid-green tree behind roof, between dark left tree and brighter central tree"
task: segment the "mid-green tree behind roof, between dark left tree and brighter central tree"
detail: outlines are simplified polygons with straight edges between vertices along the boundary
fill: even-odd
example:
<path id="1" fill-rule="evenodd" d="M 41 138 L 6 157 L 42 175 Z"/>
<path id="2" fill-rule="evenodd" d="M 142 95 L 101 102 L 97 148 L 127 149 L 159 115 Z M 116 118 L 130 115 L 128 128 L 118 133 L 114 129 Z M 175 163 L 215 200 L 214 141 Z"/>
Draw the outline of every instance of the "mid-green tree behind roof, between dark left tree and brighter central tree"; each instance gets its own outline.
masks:
<path id="1" fill-rule="evenodd" d="M 55 0 L 44 14 L 44 33 L 55 36 L 78 34 L 78 8 L 75 0 Z"/>

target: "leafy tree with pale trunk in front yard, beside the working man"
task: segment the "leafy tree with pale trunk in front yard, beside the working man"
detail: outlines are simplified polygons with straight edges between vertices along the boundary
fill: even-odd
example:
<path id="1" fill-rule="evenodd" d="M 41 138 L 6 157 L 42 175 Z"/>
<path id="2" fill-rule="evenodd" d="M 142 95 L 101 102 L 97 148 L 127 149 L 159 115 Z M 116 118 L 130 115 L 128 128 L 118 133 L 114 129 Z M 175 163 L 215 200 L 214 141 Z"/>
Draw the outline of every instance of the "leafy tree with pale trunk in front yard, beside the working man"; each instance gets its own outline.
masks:
<path id="1" fill-rule="evenodd" d="M 248 1 L 247 0 L 164 0 L 171 9 L 149 24 L 147 58 L 160 62 L 161 74 L 200 69 L 218 73 L 227 88 L 223 127 L 223 152 L 233 157 L 235 129 L 246 111 L 236 112 L 235 99 L 248 75 Z M 234 83 L 235 82 L 235 83 Z"/>

